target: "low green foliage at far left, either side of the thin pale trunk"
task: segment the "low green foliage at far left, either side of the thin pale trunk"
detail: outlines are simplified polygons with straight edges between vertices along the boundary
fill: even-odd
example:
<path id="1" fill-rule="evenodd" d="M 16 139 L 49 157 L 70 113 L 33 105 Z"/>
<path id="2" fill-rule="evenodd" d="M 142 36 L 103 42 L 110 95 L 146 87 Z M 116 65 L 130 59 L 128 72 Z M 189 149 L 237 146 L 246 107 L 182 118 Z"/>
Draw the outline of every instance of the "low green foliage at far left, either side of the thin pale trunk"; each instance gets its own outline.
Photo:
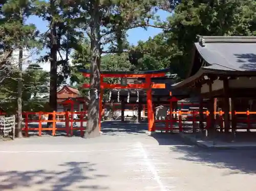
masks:
<path id="1" fill-rule="evenodd" d="M 14 112 L 17 109 L 17 72 L 6 78 L 1 83 L 0 100 L 1 108 L 7 112 Z M 37 64 L 31 64 L 23 72 L 23 110 L 40 111 L 48 101 L 49 74 L 43 71 Z"/>

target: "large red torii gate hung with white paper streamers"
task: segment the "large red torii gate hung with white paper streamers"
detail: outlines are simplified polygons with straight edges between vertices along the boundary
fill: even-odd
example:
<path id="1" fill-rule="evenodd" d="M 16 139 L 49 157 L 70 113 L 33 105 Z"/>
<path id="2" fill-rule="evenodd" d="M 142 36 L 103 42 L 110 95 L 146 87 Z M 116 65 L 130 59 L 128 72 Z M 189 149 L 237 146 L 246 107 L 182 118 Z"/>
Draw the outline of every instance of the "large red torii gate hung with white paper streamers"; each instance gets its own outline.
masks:
<path id="1" fill-rule="evenodd" d="M 151 78 L 154 77 L 163 77 L 166 72 L 169 71 L 169 68 L 156 71 L 101 71 L 100 72 L 100 95 L 99 95 L 99 129 L 102 116 L 102 97 L 103 89 L 145 89 L 147 96 L 147 121 L 148 121 L 148 132 L 154 132 L 154 112 L 152 105 L 152 89 L 165 89 L 165 83 L 153 83 Z M 90 77 L 90 70 L 80 69 L 79 72 L 83 73 L 84 77 Z M 135 83 L 135 84 L 110 84 L 103 81 L 103 78 L 145 78 L 145 83 Z M 89 88 L 90 84 L 84 83 L 83 88 Z"/>

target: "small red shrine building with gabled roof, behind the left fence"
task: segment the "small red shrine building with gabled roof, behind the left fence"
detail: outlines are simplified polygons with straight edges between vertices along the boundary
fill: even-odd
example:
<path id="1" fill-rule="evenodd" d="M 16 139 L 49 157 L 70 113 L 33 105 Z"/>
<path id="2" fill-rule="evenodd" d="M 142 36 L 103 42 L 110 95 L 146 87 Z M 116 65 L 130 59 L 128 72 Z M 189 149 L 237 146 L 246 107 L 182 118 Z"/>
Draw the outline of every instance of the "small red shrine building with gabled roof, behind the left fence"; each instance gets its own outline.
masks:
<path id="1" fill-rule="evenodd" d="M 68 84 L 57 91 L 57 111 L 81 111 L 86 108 L 86 98 L 80 95 L 77 88 Z"/>

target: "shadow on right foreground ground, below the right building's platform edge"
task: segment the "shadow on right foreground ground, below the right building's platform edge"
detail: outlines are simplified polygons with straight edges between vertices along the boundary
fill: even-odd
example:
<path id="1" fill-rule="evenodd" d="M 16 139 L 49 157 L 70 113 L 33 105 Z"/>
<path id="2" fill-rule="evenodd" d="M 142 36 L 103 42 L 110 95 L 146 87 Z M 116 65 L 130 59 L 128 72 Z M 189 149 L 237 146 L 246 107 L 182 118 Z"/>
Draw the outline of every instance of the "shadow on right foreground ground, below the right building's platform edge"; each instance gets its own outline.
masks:
<path id="1" fill-rule="evenodd" d="M 228 168 L 224 174 L 255 174 L 255 150 L 218 150 L 218 148 L 201 148 L 198 146 L 178 145 L 170 147 L 171 152 L 183 154 L 179 160 L 200 163 L 217 168 Z"/>

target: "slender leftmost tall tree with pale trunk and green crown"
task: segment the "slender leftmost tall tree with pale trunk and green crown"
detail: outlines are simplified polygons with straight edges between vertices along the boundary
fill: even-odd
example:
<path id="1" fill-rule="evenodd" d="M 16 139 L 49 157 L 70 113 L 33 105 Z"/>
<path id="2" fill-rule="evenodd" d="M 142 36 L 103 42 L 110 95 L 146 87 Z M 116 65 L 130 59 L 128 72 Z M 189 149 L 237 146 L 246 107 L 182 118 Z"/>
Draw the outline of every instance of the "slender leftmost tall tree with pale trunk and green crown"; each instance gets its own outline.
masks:
<path id="1" fill-rule="evenodd" d="M 22 66 L 23 49 L 36 47 L 38 31 L 34 25 L 26 25 L 25 21 L 32 14 L 31 1 L 9 0 L 2 7 L 6 19 L 6 35 L 12 38 L 9 45 L 12 49 L 19 50 L 18 56 L 18 83 L 17 83 L 17 137 L 22 137 Z"/>

